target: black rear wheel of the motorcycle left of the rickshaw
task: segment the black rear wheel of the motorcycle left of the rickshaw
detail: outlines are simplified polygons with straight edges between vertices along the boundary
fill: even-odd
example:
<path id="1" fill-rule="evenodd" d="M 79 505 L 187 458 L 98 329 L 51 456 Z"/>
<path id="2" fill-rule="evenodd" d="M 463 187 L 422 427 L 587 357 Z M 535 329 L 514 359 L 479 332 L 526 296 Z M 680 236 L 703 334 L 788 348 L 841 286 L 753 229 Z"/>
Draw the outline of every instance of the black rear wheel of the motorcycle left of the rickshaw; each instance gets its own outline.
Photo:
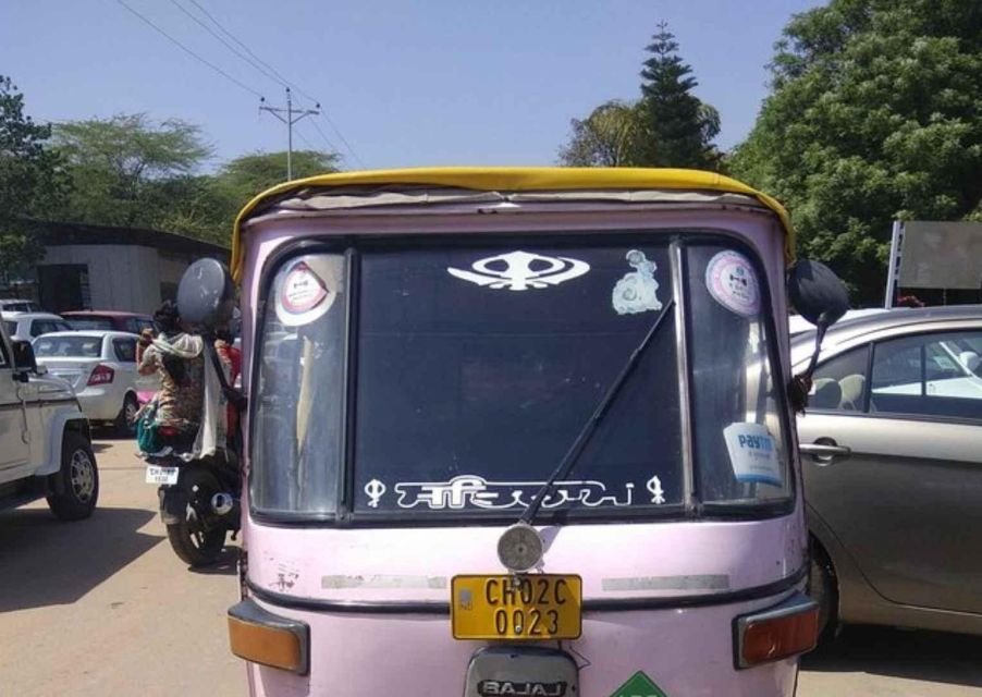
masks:
<path id="1" fill-rule="evenodd" d="M 214 475 L 198 467 L 182 473 L 181 488 L 187 496 L 185 516 L 167 526 L 167 537 L 181 561 L 189 566 L 208 566 L 221 554 L 226 530 L 221 523 L 209 529 L 202 525 L 197 511 L 210 513 L 211 497 L 222 489 Z"/>

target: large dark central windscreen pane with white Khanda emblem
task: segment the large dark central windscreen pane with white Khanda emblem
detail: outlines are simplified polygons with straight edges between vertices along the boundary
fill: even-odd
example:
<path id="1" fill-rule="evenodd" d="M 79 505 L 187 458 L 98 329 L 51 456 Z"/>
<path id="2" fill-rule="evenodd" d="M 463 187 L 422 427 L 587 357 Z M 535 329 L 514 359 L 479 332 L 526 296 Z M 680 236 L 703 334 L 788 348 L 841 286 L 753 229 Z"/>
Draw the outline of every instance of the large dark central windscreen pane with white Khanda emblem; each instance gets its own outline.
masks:
<path id="1" fill-rule="evenodd" d="M 356 513 L 520 514 L 671 297 L 667 241 L 537 242 L 364 254 Z M 539 519 L 683 501 L 674 325 Z"/>

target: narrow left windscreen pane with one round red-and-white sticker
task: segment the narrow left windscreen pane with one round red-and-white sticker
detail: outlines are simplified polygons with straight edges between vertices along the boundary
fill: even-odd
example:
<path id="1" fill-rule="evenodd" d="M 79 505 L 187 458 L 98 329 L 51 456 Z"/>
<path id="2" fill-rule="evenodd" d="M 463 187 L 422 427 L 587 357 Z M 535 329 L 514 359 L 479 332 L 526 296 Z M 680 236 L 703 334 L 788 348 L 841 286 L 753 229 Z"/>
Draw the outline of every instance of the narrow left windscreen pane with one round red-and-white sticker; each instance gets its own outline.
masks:
<path id="1" fill-rule="evenodd" d="M 308 255 L 283 265 L 273 280 L 255 390 L 249 497 L 256 509 L 330 514 L 337 508 L 344 268 L 342 255 Z"/>

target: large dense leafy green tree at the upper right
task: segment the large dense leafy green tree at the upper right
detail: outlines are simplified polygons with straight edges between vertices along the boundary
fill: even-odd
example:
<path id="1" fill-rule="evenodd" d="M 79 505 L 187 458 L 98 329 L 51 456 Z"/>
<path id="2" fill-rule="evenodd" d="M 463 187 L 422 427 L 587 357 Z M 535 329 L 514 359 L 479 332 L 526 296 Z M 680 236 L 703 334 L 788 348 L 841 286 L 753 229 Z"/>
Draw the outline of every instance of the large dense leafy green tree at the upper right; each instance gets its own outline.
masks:
<path id="1" fill-rule="evenodd" d="M 731 167 L 856 301 L 882 298 L 892 220 L 982 215 L 982 3 L 832 0 L 790 21 L 770 68 Z"/>

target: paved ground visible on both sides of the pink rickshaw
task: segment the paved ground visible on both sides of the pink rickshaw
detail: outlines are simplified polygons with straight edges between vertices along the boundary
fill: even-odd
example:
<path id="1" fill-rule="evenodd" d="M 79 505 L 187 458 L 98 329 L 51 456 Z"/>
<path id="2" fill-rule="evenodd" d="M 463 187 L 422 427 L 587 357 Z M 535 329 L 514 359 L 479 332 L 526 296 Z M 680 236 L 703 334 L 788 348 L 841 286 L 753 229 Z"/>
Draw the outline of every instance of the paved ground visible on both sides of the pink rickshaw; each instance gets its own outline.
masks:
<path id="1" fill-rule="evenodd" d="M 0 513 L 0 696 L 240 697 L 225 610 L 234 555 L 193 573 L 167 542 L 133 445 L 98 441 L 100 505 Z M 857 627 L 806 658 L 799 697 L 982 697 L 982 637 Z"/>

